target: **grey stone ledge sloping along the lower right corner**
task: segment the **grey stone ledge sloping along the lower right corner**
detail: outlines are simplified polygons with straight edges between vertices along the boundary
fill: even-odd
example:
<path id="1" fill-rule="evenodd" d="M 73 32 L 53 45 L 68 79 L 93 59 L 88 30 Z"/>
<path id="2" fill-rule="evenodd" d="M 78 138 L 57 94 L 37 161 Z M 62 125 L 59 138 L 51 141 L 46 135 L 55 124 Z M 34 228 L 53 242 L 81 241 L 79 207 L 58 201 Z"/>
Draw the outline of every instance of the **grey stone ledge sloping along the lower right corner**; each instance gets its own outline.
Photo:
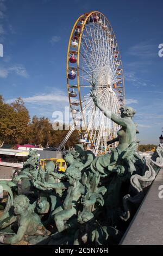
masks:
<path id="1" fill-rule="evenodd" d="M 121 245 L 163 245 L 163 168 L 156 176 Z M 162 192 L 163 196 L 163 192 Z"/>

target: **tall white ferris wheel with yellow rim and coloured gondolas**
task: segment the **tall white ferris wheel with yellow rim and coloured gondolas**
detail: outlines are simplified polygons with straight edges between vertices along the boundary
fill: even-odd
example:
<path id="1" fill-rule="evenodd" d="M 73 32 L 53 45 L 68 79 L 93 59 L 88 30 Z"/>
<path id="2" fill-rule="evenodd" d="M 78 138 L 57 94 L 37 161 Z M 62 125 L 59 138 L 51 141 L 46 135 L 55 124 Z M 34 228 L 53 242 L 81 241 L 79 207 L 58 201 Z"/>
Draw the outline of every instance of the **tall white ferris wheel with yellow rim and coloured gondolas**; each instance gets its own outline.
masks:
<path id="1" fill-rule="evenodd" d="M 120 127 L 95 107 L 90 89 L 105 108 L 120 114 L 120 106 L 124 105 L 120 50 L 109 21 L 99 11 L 81 15 L 70 35 L 67 90 L 73 125 L 59 149 L 75 129 L 79 130 L 80 143 L 95 155 L 109 151 L 107 142 L 117 137 Z"/>

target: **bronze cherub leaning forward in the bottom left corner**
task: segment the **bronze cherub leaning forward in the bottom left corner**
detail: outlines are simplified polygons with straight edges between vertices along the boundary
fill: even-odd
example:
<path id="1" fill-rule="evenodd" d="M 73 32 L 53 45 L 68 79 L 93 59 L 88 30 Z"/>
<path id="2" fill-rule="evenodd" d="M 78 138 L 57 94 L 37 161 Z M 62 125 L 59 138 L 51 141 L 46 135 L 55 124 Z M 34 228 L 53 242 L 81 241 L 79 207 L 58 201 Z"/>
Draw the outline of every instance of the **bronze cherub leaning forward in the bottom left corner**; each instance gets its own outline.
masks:
<path id="1" fill-rule="evenodd" d="M 24 235 L 46 235 L 47 230 L 43 227 L 39 215 L 31 212 L 28 197 L 24 195 L 16 196 L 14 199 L 14 213 L 15 218 L 11 222 L 5 223 L 1 228 L 7 227 L 17 222 L 18 230 L 16 235 L 0 236 L 1 243 L 15 244 L 23 239 Z M 6 225 L 7 224 L 7 225 Z"/>

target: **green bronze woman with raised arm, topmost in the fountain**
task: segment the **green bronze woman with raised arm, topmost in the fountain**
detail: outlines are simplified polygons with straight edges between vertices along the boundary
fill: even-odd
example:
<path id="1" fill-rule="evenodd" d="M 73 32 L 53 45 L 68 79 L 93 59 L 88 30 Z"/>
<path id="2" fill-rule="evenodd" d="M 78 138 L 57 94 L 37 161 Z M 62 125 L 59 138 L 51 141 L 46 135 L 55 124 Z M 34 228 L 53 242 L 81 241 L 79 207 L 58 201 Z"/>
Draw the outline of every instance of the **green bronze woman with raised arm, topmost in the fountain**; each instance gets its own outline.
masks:
<path id="1" fill-rule="evenodd" d="M 124 172 L 124 164 L 121 165 L 121 160 L 128 157 L 128 152 L 134 153 L 137 149 L 136 138 L 136 127 L 133 122 L 133 117 L 136 111 L 131 107 L 122 106 L 120 108 L 121 117 L 111 112 L 109 109 L 104 108 L 97 99 L 97 96 L 91 90 L 90 93 L 95 105 L 104 113 L 106 117 L 114 121 L 116 124 L 121 125 L 121 129 L 117 132 L 118 137 L 113 139 L 111 142 L 118 141 L 118 147 L 113 149 L 111 155 L 102 155 L 93 160 L 91 169 L 93 172 L 96 170 L 101 175 L 106 176 L 105 169 L 112 171 L 116 168 L 116 172 Z M 126 154 L 125 154 L 126 153 Z M 133 155 L 133 154 L 132 154 Z M 132 164 L 131 164 L 132 165 Z M 130 163 L 129 163 L 130 167 Z"/>

